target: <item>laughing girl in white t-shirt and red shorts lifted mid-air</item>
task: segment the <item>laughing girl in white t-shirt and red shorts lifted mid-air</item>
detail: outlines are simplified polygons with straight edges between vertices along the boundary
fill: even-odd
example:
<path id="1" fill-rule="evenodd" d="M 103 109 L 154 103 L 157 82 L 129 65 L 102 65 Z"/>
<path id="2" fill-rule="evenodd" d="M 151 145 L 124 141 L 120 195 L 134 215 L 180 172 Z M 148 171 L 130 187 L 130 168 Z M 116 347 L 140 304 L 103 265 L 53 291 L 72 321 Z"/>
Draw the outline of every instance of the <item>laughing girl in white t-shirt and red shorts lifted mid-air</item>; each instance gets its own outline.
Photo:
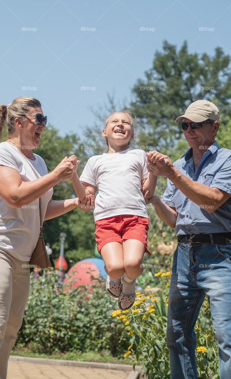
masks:
<path id="1" fill-rule="evenodd" d="M 106 289 L 118 298 L 119 309 L 126 310 L 135 301 L 135 280 L 143 271 L 144 253 L 150 254 L 149 219 L 141 186 L 153 194 L 157 177 L 147 171 L 145 152 L 129 148 L 134 138 L 129 111 L 112 113 L 102 136 L 109 152 L 89 158 L 80 178 L 75 172 L 71 180 L 80 200 L 99 191 L 95 199 L 95 235 L 108 274 Z"/>

